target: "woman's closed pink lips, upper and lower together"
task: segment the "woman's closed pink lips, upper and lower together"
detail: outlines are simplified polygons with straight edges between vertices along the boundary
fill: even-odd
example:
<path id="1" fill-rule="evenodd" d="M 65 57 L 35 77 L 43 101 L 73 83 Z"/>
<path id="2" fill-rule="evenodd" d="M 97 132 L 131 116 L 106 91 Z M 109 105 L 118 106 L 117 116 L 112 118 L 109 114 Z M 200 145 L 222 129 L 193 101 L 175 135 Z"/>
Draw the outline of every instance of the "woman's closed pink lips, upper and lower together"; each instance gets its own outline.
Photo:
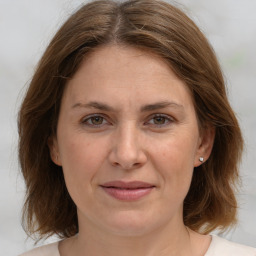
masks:
<path id="1" fill-rule="evenodd" d="M 136 201 L 148 195 L 155 186 L 142 181 L 110 181 L 100 185 L 111 197 L 121 201 Z"/>

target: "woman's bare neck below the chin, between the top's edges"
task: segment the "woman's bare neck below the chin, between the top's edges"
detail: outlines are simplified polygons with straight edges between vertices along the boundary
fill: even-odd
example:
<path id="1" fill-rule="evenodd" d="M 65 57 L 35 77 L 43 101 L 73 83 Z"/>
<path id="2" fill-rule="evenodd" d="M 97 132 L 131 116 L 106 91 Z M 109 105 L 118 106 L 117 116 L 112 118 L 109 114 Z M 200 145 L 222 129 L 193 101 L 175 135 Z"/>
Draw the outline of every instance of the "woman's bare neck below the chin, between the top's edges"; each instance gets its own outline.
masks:
<path id="1" fill-rule="evenodd" d="M 97 227 L 79 225 L 79 234 L 60 246 L 62 256 L 191 256 L 190 231 L 182 221 L 173 221 L 147 234 L 120 235 Z M 69 253 L 66 253 L 69 252 Z"/>

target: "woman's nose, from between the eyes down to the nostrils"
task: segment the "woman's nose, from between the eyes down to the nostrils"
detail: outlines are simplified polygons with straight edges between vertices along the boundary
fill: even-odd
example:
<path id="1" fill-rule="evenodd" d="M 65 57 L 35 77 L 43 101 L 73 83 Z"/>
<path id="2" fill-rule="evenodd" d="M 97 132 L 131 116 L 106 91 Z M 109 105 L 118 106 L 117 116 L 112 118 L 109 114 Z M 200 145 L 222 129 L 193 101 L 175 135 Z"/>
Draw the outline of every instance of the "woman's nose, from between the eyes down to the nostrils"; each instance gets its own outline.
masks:
<path id="1" fill-rule="evenodd" d="M 109 154 L 111 165 L 123 170 L 131 170 L 146 163 L 147 155 L 138 130 L 133 125 L 124 125 L 115 132 Z"/>

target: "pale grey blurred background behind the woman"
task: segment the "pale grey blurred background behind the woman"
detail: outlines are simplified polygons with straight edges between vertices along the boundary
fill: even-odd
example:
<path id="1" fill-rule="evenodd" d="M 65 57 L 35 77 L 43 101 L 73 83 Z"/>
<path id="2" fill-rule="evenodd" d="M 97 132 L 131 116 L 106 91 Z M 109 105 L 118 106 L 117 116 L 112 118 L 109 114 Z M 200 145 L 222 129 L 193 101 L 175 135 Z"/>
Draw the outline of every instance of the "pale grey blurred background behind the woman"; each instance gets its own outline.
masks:
<path id="1" fill-rule="evenodd" d="M 20 223 L 24 184 L 17 164 L 17 111 L 47 44 L 85 2 L 0 0 L 0 248 L 5 256 L 33 246 Z M 256 1 L 180 0 L 176 5 L 213 45 L 244 132 L 239 224 L 224 237 L 256 247 Z"/>

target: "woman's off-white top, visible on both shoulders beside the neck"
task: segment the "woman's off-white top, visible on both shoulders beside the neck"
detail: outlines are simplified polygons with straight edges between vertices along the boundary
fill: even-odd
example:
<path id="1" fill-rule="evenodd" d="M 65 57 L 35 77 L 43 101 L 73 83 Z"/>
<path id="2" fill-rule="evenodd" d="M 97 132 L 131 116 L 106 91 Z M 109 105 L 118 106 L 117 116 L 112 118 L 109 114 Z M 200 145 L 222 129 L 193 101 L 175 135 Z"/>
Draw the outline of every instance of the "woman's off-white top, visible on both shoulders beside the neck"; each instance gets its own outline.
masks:
<path id="1" fill-rule="evenodd" d="M 58 242 L 35 248 L 20 256 L 60 256 Z M 233 243 L 213 235 L 205 256 L 256 256 L 256 248 Z"/>

